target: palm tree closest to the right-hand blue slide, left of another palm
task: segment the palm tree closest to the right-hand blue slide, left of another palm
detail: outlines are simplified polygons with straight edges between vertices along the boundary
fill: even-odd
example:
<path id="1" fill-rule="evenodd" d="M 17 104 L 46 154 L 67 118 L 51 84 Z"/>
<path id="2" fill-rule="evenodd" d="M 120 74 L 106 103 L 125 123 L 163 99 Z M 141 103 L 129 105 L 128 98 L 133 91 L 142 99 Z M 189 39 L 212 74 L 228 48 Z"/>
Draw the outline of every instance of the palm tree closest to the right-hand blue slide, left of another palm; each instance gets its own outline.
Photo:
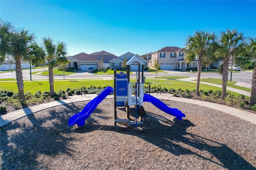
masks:
<path id="1" fill-rule="evenodd" d="M 186 38 L 185 57 L 186 61 L 192 61 L 198 56 L 197 66 L 197 81 L 196 81 L 196 95 L 199 95 L 200 76 L 202 71 L 203 59 L 209 55 L 209 45 L 215 40 L 216 36 L 213 33 L 205 31 L 196 31 L 193 36 Z"/>

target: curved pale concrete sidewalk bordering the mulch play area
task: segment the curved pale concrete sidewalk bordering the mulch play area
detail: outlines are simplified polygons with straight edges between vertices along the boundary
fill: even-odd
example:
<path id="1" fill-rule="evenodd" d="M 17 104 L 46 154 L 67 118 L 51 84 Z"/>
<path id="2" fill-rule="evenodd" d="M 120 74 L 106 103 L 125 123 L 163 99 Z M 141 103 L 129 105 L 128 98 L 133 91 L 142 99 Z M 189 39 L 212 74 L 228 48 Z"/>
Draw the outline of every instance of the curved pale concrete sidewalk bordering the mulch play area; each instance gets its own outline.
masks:
<path id="1" fill-rule="evenodd" d="M 157 99 L 179 101 L 179 102 L 191 103 L 191 104 L 194 104 L 194 105 L 209 107 L 209 108 L 212 108 L 212 109 L 216 109 L 216 110 L 226 112 L 228 114 L 240 117 L 240 118 L 242 118 L 246 121 L 249 121 L 249 122 L 252 122 L 252 123 L 256 124 L 256 114 L 254 114 L 254 113 L 242 111 L 242 110 L 235 109 L 235 108 L 228 107 L 228 106 L 224 106 L 224 105 L 218 105 L 216 103 L 209 103 L 209 102 L 197 101 L 197 100 L 193 100 L 193 99 L 172 97 L 172 94 L 162 94 L 162 95 L 160 95 L 160 94 L 157 94 L 157 93 L 151 93 L 150 95 L 156 97 Z M 22 117 L 25 117 L 27 115 L 36 113 L 38 111 L 42 111 L 43 109 L 48 109 L 48 108 L 51 108 L 51 107 L 56 107 L 56 106 L 59 106 L 59 105 L 65 105 L 65 104 L 69 104 L 69 103 L 88 101 L 88 100 L 94 99 L 96 96 L 97 96 L 96 94 L 86 94 L 85 96 L 75 95 L 75 96 L 70 96 L 71 99 L 65 99 L 65 100 L 60 100 L 60 101 L 53 101 L 53 102 L 49 102 L 49 103 L 44 103 L 44 104 L 41 104 L 41 105 L 20 109 L 18 111 L 14 111 L 14 112 L 8 113 L 6 115 L 1 115 L 1 117 L 0 117 L 0 127 L 4 126 L 4 125 L 6 125 L 6 124 L 8 124 L 12 121 L 15 121 L 17 119 L 20 119 Z M 114 98 L 114 95 L 108 95 L 106 97 L 106 99 L 111 99 L 111 98 Z"/>

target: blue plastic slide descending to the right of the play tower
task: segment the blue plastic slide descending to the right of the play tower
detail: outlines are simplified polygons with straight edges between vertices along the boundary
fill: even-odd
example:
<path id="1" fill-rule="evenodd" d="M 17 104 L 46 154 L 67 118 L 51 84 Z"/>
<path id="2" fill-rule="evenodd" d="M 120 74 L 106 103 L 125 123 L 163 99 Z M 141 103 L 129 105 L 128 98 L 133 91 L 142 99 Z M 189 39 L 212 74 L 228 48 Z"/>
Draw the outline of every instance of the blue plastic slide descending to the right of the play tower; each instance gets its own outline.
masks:
<path id="1" fill-rule="evenodd" d="M 182 113 L 180 110 L 176 108 L 168 107 L 166 104 L 164 104 L 162 101 L 157 99 L 156 97 L 144 94 L 143 101 L 147 101 L 152 103 L 155 107 L 160 109 L 161 111 L 164 111 L 165 113 L 168 113 L 169 115 L 175 116 L 178 120 L 182 121 L 182 117 L 186 117 L 184 113 Z"/>

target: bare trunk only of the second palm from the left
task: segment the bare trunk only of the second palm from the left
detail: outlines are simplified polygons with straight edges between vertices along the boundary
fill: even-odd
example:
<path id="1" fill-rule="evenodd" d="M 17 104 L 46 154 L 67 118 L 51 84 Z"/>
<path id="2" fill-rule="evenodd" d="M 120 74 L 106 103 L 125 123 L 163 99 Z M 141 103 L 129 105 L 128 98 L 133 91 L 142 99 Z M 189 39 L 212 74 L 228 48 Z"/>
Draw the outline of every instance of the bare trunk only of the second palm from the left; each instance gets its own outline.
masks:
<path id="1" fill-rule="evenodd" d="M 16 61 L 16 80 L 18 85 L 18 92 L 19 92 L 19 99 L 25 101 L 24 96 L 24 84 L 23 84 L 23 77 L 22 77 L 22 67 L 20 62 L 20 57 L 18 59 L 15 59 Z"/>

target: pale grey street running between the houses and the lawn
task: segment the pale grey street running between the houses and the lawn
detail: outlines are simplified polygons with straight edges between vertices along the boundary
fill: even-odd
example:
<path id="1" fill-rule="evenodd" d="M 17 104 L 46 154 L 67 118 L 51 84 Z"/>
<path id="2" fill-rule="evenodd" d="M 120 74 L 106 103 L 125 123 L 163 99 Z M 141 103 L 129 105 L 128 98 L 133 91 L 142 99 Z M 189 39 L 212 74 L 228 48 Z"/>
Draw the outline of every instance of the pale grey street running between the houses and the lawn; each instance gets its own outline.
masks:
<path id="1" fill-rule="evenodd" d="M 47 70 L 48 68 L 44 69 L 32 69 L 32 72 L 36 71 L 44 71 Z M 166 71 L 166 73 L 158 73 L 157 77 L 160 76 L 174 76 L 174 75 L 180 75 L 180 76 L 189 76 L 189 77 L 197 77 L 197 73 L 190 73 L 190 72 L 180 72 L 180 71 Z M 23 70 L 23 79 L 24 80 L 30 80 L 30 70 Z M 148 73 L 144 72 L 145 77 L 155 77 L 155 73 Z M 92 73 L 87 73 L 85 71 L 78 71 L 75 74 L 72 75 L 65 75 L 65 79 L 82 79 L 82 78 L 112 78 L 114 77 L 113 75 L 94 75 Z M 133 72 L 130 77 L 136 77 L 136 72 Z M 222 79 L 222 76 L 219 75 L 218 73 L 201 73 L 201 78 L 217 78 L 217 79 Z M 0 78 L 1 79 L 6 79 L 6 78 L 12 78 L 16 79 L 16 73 L 15 71 L 13 72 L 7 72 L 7 73 L 0 73 Z M 32 75 L 32 80 L 33 79 L 48 79 L 48 75 Z M 54 75 L 54 79 L 63 79 L 63 75 Z M 230 80 L 230 73 L 228 75 L 228 79 Z M 252 83 L 252 71 L 241 71 L 240 73 L 232 73 L 232 81 L 239 81 L 243 83 Z"/>

